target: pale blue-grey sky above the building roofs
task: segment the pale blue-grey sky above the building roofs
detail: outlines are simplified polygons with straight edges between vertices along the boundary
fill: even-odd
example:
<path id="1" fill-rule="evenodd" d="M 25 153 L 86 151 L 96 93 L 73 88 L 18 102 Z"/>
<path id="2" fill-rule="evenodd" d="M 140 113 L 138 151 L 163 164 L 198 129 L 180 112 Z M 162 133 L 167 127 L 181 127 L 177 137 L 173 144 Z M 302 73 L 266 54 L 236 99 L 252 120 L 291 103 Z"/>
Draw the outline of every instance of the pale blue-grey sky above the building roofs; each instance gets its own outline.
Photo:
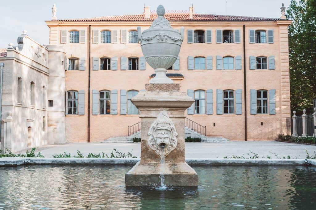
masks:
<path id="1" fill-rule="evenodd" d="M 288 7 L 290 0 L 1 0 L 0 48 L 9 43 L 17 45 L 17 37 L 27 34 L 40 44 L 49 44 L 52 6 L 56 3 L 57 18 L 91 18 L 108 15 L 142 14 L 144 4 L 156 10 L 162 4 L 167 10 L 189 10 L 194 13 L 214 15 L 242 15 L 255 17 L 281 17 L 282 3 Z"/>

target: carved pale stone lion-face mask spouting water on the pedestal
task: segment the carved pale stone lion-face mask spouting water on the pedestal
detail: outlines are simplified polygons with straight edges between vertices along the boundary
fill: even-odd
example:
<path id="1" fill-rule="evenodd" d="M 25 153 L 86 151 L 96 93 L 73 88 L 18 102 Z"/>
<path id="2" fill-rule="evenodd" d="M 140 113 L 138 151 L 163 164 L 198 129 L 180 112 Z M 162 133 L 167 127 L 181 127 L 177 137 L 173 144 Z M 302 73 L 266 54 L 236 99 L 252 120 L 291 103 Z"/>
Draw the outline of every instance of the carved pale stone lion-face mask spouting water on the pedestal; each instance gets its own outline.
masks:
<path id="1" fill-rule="evenodd" d="M 162 149 L 161 145 L 164 145 L 165 156 L 177 147 L 178 133 L 166 111 L 159 113 L 157 119 L 150 125 L 148 135 L 149 147 L 159 156 Z"/>

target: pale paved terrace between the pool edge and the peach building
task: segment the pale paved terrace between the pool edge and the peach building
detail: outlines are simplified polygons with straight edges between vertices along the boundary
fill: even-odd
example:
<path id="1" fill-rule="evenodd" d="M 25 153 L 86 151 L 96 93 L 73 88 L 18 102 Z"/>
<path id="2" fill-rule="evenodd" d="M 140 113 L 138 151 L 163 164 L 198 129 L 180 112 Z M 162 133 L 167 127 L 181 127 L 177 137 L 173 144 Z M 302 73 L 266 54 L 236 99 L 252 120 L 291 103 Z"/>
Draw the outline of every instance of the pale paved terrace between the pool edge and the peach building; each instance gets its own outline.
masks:
<path id="1" fill-rule="evenodd" d="M 105 152 L 110 155 L 113 148 L 124 153 L 132 151 L 132 154 L 140 157 L 140 143 L 66 143 L 46 145 L 37 148 L 36 152 L 40 151 L 45 157 L 52 157 L 55 154 L 70 153 L 76 155 L 77 150 L 87 156 L 89 153 L 98 154 Z M 316 146 L 303 145 L 295 143 L 282 143 L 275 141 L 259 141 L 259 142 L 227 142 L 227 143 L 185 143 L 185 158 L 223 158 L 243 155 L 249 158 L 247 153 L 250 151 L 258 154 L 260 158 L 270 156 L 283 158 L 290 155 L 291 158 L 306 158 L 305 149 L 310 155 L 314 155 Z M 271 154 L 271 153 L 272 154 Z M 25 150 L 17 153 L 25 153 Z M 252 154 L 251 154 L 252 156 Z"/>

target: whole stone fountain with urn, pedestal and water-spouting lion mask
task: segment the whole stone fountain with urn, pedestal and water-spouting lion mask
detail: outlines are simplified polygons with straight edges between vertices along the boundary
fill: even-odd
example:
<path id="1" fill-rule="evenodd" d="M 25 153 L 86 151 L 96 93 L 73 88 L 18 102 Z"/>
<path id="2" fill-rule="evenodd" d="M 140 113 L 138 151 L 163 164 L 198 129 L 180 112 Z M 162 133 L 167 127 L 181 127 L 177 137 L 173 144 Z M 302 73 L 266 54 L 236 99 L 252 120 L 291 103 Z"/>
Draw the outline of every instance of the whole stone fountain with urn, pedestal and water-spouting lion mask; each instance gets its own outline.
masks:
<path id="1" fill-rule="evenodd" d="M 145 91 L 131 101 L 140 110 L 141 159 L 125 174 L 130 186 L 197 186 L 197 173 L 185 162 L 185 110 L 194 100 L 180 85 L 166 76 L 167 68 L 179 55 L 184 28 L 173 30 L 157 8 L 157 19 L 149 29 L 138 30 L 138 39 L 147 63 L 156 76 L 145 84 Z"/>

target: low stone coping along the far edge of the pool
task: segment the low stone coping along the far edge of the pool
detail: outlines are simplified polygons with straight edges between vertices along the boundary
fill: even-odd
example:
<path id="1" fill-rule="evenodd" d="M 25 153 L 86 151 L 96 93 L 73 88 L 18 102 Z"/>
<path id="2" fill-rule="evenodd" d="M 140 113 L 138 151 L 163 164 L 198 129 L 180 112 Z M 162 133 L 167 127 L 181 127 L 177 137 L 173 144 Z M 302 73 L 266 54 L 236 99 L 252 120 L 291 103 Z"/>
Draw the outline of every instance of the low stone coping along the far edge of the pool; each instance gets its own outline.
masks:
<path id="1" fill-rule="evenodd" d="M 0 158 L 0 166 L 22 166 L 22 165 L 135 165 L 139 158 Z M 210 166 L 302 166 L 304 159 L 228 159 L 228 158 L 190 158 L 185 161 L 193 165 Z M 316 167 L 316 160 L 311 161 Z"/>

